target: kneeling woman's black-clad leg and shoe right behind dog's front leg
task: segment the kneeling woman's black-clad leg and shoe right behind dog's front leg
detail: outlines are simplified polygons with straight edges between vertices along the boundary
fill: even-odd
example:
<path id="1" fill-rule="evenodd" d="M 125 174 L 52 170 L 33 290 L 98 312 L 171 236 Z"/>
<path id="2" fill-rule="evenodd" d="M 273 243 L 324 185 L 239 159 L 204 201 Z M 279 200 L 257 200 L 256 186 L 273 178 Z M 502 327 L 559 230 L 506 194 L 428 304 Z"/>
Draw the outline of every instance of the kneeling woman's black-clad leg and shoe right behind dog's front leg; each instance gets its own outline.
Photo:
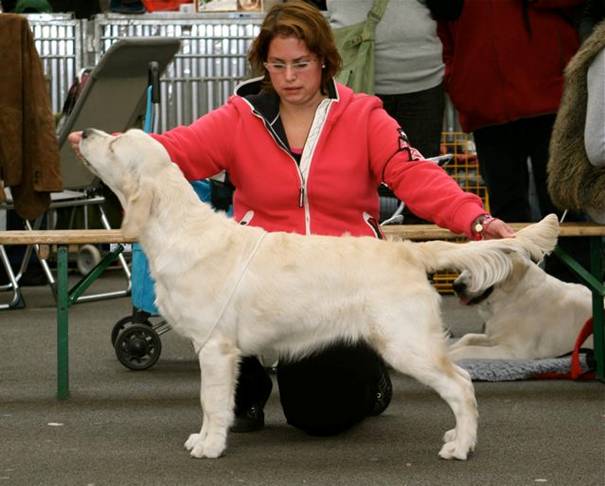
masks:
<path id="1" fill-rule="evenodd" d="M 235 389 L 235 420 L 232 432 L 251 432 L 265 425 L 264 407 L 273 382 L 255 356 L 242 358 Z"/>

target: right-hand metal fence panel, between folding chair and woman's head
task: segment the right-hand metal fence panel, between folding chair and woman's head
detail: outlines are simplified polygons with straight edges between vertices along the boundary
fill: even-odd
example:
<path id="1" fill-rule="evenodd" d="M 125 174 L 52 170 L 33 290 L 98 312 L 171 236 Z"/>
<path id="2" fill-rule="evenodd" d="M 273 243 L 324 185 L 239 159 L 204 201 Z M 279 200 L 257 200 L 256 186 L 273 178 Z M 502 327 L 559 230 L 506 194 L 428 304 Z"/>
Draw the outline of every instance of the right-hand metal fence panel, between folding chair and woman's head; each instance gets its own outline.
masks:
<path id="1" fill-rule="evenodd" d="M 97 60 L 122 37 L 178 37 L 182 45 L 161 82 L 159 131 L 189 124 L 223 104 L 247 73 L 246 53 L 262 16 L 106 15 L 94 20 Z"/>

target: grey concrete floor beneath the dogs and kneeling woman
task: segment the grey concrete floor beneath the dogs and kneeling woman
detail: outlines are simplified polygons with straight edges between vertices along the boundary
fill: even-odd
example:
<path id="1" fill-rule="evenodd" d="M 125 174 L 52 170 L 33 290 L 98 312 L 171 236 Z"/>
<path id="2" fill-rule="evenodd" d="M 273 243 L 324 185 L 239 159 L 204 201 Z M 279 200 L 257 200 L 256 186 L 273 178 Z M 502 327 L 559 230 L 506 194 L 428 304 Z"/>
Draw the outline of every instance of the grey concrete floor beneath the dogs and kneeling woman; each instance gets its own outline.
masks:
<path id="1" fill-rule="evenodd" d="M 98 285 L 122 283 L 110 273 Z M 200 426 L 188 342 L 169 332 L 152 369 L 129 371 L 110 332 L 130 314 L 130 300 L 75 305 L 71 398 L 59 402 L 54 302 L 46 287 L 24 295 L 25 309 L 0 311 L 0 486 L 605 485 L 598 382 L 476 383 L 479 444 L 467 462 L 438 458 L 453 416 L 432 390 L 402 376 L 384 414 L 330 438 L 287 426 L 274 391 L 264 430 L 232 434 L 218 460 L 194 460 L 183 449 Z M 444 318 L 457 335 L 481 325 L 451 297 Z"/>

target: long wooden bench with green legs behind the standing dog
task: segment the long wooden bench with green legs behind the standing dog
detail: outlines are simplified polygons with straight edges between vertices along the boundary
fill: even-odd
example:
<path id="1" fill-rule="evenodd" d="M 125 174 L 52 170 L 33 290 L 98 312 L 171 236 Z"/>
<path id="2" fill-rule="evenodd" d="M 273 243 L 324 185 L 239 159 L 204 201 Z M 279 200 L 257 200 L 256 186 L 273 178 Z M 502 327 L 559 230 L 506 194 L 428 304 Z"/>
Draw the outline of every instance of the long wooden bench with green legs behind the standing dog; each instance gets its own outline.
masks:
<path id="1" fill-rule="evenodd" d="M 526 224 L 518 223 L 511 225 L 519 230 Z M 384 226 L 383 231 L 388 238 L 401 238 L 409 240 L 451 240 L 462 238 L 443 228 L 435 225 L 392 225 Z M 561 236 L 565 237 L 588 237 L 591 243 L 591 269 L 582 268 L 563 250 L 557 248 L 555 253 L 574 270 L 590 287 L 593 293 L 593 324 L 595 357 L 597 361 L 597 376 L 601 381 L 605 380 L 605 337 L 604 337 L 604 312 L 603 296 L 605 286 L 601 280 L 603 275 L 602 261 L 602 237 L 605 236 L 605 225 L 594 224 L 563 224 L 561 225 Z M 131 243 L 125 239 L 119 230 L 48 230 L 48 231 L 0 231 L 0 245 L 42 245 L 57 247 L 57 398 L 60 400 L 69 397 L 69 307 L 77 300 L 77 297 L 102 273 L 109 265 L 115 254 L 108 254 L 85 276 L 76 286 L 68 290 L 67 281 L 67 257 L 70 247 L 85 244 L 101 243 Z M 119 248 L 115 252 L 119 252 Z M 115 253 L 112 252 L 112 253 Z"/>

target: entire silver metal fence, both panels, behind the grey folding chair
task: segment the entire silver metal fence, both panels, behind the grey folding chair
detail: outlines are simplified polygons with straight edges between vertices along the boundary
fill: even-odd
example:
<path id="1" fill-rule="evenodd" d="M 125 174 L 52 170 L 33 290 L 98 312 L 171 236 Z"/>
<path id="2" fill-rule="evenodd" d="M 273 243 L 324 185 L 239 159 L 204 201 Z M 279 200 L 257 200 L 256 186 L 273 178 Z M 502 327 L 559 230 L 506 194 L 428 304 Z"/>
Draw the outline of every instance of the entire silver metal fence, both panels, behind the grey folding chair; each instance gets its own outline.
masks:
<path id="1" fill-rule="evenodd" d="M 123 37 L 178 37 L 181 50 L 161 82 L 159 130 L 189 124 L 222 105 L 246 77 L 246 54 L 259 32 L 257 13 L 105 14 L 90 21 L 70 14 L 28 15 L 49 79 L 52 110 L 61 110 L 82 67 L 94 65 Z"/>

